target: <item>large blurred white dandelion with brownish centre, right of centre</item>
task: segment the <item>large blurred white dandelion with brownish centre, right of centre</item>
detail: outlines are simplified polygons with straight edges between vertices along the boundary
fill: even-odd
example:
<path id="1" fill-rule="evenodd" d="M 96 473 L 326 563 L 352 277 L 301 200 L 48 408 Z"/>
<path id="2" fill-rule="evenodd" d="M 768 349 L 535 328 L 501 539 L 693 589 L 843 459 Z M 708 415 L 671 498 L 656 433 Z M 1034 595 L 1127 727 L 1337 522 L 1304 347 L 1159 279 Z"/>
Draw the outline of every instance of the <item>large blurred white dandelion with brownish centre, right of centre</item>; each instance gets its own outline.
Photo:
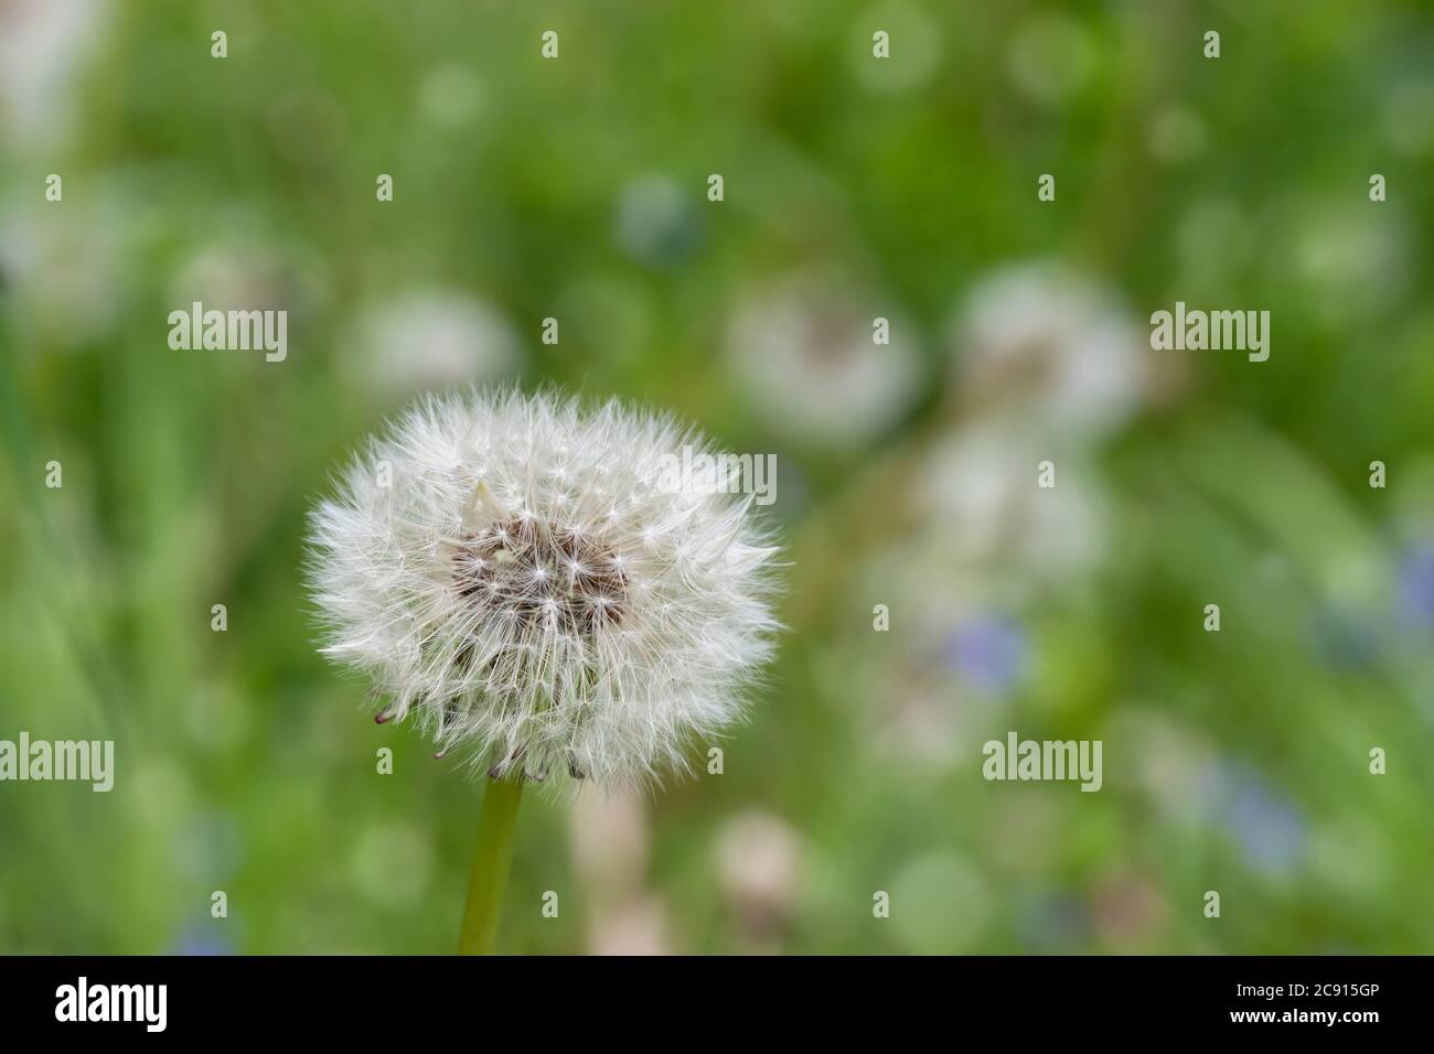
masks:
<path id="1" fill-rule="evenodd" d="M 955 333 L 958 394 L 1065 437 L 1119 429 L 1146 397 L 1149 338 L 1113 291 L 1055 264 L 997 271 Z M 1047 453 L 1044 456 L 1054 456 Z"/>

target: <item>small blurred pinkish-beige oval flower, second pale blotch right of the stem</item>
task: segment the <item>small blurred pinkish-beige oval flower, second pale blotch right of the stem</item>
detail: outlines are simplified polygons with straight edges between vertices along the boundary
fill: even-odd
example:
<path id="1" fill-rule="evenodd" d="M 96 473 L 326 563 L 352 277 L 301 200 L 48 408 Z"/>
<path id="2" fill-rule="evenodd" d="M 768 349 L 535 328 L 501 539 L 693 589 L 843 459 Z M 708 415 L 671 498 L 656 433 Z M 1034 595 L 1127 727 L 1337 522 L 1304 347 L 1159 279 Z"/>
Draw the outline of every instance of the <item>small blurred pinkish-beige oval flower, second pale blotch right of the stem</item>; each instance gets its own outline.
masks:
<path id="1" fill-rule="evenodd" d="M 749 935 L 770 936 L 796 908 L 806 880 L 802 836 L 767 812 L 740 813 L 718 829 L 717 880 Z"/>

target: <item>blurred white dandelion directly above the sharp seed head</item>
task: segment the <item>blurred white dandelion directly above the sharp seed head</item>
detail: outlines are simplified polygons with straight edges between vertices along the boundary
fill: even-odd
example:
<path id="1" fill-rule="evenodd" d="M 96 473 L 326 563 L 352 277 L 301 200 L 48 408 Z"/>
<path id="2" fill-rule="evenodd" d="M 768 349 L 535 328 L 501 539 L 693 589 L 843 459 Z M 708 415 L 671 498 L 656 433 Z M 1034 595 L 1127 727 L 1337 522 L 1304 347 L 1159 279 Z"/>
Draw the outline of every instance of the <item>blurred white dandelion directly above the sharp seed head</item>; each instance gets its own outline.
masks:
<path id="1" fill-rule="evenodd" d="M 503 380 L 518 371 L 518 336 L 496 308 L 453 290 L 423 288 L 366 308 L 353 369 L 376 393 Z"/>

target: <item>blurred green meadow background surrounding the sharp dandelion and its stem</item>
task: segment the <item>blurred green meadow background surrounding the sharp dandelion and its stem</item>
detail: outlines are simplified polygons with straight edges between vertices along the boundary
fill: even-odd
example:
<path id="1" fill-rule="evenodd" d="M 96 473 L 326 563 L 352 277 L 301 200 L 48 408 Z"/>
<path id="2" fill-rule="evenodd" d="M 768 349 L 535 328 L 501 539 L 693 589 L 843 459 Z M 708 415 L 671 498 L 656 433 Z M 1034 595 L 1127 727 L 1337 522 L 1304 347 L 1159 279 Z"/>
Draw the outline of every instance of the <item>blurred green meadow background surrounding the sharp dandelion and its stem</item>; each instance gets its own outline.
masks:
<path id="1" fill-rule="evenodd" d="M 792 559 L 726 771 L 529 794 L 505 949 L 1434 949 L 1427 4 L 0 0 L 0 739 L 118 756 L 0 784 L 0 951 L 455 946 L 482 787 L 300 564 L 505 379 L 776 453 Z M 1269 361 L 1152 351 L 1176 300 Z M 1010 730 L 1103 790 L 985 782 Z"/>

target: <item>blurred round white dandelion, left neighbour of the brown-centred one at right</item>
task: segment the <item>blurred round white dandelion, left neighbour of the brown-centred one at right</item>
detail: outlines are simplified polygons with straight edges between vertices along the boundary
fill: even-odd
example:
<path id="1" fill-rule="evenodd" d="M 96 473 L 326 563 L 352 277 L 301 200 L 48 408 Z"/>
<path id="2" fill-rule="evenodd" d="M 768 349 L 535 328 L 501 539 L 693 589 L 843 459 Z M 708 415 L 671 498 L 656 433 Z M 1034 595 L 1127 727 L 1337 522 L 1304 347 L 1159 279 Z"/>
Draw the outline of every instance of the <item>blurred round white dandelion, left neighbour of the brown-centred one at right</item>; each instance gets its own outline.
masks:
<path id="1" fill-rule="evenodd" d="M 889 344 L 875 343 L 876 318 L 889 321 Z M 744 300 L 727 354 L 770 427 L 817 445 L 879 435 L 909 406 L 919 379 L 915 343 L 898 313 L 823 272 L 797 274 Z"/>

